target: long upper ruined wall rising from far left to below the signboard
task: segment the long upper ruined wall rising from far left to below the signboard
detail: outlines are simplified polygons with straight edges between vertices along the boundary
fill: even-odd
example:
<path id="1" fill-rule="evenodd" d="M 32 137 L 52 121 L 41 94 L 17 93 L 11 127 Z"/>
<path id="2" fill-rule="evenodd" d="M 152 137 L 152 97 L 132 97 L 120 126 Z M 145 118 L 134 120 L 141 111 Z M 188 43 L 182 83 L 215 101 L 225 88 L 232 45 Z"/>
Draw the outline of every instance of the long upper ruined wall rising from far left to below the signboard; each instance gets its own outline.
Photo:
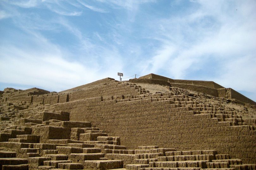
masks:
<path id="1" fill-rule="evenodd" d="M 110 79 L 110 81 L 112 81 L 112 79 Z M 107 96 L 115 96 L 115 99 L 125 99 L 125 96 L 127 95 L 140 95 L 144 93 L 149 93 L 149 91 L 146 91 L 144 88 L 138 87 L 134 84 L 113 81 L 110 83 L 103 83 L 94 88 L 73 91 L 72 93 L 48 93 L 43 95 L 18 93 L 16 95 L 7 97 L 5 100 L 54 105 L 56 103 L 65 103 L 68 101 L 97 96 L 104 96 L 104 98 L 107 98 Z"/>

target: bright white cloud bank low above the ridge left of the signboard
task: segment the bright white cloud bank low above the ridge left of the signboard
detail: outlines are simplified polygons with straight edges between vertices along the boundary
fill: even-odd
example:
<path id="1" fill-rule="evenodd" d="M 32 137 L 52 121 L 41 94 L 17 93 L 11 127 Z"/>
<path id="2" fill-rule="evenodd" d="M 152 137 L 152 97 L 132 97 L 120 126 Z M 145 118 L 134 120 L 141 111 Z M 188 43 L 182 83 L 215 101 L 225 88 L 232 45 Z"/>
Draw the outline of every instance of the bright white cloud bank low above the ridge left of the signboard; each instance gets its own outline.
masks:
<path id="1" fill-rule="evenodd" d="M 36 54 L 34 51 L 17 47 L 1 47 L 0 68 L 2 83 L 22 86 L 42 87 L 50 91 L 61 91 L 114 75 L 121 63 L 115 56 L 105 58 L 104 65 L 83 65 L 78 61 L 68 61 L 59 51 Z M 52 53 L 55 51 L 55 53 Z"/>

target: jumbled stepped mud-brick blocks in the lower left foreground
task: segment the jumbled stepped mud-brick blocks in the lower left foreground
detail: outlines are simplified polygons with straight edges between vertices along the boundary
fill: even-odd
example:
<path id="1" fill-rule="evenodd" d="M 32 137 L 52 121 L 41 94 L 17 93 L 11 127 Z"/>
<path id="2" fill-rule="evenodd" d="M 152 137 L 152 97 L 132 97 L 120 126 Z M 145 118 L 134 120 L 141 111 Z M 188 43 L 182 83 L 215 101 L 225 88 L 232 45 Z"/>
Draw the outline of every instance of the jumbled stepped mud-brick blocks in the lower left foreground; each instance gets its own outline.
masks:
<path id="1" fill-rule="evenodd" d="M 29 119 L 16 120 L 12 127 L 15 129 L 3 130 L 1 133 L 10 133 L 13 138 L 0 143 L 1 168 L 34 170 L 123 167 L 123 160 L 107 160 L 103 153 L 105 149 L 108 152 L 126 150 L 125 146 L 120 146 L 119 137 L 107 136 L 99 128 L 91 127 L 90 122 L 62 121 L 63 115 L 67 114 L 39 112 Z M 49 119 L 52 117 L 56 119 Z"/>

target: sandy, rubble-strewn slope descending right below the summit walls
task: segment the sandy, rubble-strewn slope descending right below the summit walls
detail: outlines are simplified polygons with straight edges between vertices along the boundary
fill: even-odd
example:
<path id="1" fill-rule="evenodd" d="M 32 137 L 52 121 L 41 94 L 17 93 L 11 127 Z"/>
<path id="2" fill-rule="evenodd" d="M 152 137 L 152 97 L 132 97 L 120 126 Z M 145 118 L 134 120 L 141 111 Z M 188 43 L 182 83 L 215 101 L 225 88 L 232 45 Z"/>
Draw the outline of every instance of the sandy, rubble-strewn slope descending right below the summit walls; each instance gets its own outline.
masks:
<path id="1" fill-rule="evenodd" d="M 150 93 L 166 93 L 172 92 L 174 95 L 186 94 L 193 97 L 196 101 L 202 104 L 211 104 L 215 107 L 220 108 L 220 110 L 230 110 L 236 111 L 238 115 L 241 115 L 243 118 L 255 118 L 256 119 L 256 106 L 252 105 L 241 105 L 237 102 L 231 101 L 229 99 L 218 98 L 204 93 L 199 93 L 196 91 L 170 87 L 161 86 L 159 84 L 147 84 L 147 83 L 135 83 L 137 86 L 141 86 L 148 90 Z"/>

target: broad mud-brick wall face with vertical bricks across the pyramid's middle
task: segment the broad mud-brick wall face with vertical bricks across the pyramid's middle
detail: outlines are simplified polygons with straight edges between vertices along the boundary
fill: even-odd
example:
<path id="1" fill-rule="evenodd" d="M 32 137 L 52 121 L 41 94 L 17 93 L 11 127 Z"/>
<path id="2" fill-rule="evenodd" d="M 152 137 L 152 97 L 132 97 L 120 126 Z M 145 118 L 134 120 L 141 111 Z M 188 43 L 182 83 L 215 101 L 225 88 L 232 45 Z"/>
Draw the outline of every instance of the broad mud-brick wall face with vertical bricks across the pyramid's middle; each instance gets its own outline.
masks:
<path id="1" fill-rule="evenodd" d="M 132 100 L 132 99 L 131 99 Z M 196 114 L 170 100 L 141 99 L 126 102 L 82 99 L 55 105 L 70 112 L 71 121 L 89 121 L 122 145 L 158 145 L 177 150 L 217 150 L 244 163 L 256 163 L 256 131 L 248 125 L 218 122 L 213 114 Z"/>

